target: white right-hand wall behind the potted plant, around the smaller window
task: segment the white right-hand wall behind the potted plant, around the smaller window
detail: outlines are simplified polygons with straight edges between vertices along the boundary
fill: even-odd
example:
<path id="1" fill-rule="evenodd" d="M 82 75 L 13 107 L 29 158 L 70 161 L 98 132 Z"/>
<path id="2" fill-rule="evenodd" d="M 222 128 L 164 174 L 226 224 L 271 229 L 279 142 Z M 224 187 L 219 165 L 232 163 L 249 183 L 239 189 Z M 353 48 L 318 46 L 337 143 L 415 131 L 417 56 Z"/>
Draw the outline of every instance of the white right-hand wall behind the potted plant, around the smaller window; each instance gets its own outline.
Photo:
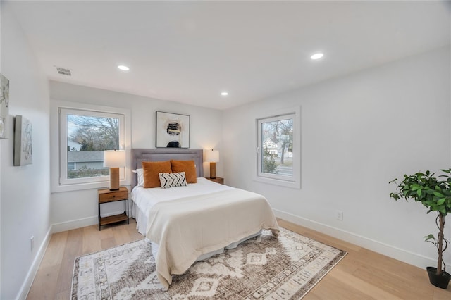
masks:
<path id="1" fill-rule="evenodd" d="M 256 119 L 292 106 L 301 106 L 302 188 L 252 181 Z M 436 250 L 422 238 L 436 234 L 435 215 L 390 199 L 388 182 L 449 168 L 450 135 L 445 48 L 225 111 L 224 175 L 264 194 L 283 218 L 424 267 L 435 265 Z M 450 217 L 445 230 L 451 237 Z"/>

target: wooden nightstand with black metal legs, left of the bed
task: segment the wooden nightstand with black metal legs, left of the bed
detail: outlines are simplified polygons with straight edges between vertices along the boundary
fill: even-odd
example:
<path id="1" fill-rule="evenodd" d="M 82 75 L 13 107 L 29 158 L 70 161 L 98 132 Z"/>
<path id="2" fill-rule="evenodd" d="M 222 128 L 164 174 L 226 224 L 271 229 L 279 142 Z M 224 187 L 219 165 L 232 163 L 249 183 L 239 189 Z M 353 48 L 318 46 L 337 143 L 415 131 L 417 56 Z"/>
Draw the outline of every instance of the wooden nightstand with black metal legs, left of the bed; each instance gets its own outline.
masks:
<path id="1" fill-rule="evenodd" d="M 109 189 L 98 189 L 97 194 L 99 196 L 99 230 L 101 225 L 112 224 L 128 220 L 128 189 L 126 187 L 120 187 L 117 191 L 110 191 Z M 100 204 L 105 204 L 115 201 L 124 201 L 124 212 L 118 215 L 109 215 L 108 217 L 100 216 Z"/>

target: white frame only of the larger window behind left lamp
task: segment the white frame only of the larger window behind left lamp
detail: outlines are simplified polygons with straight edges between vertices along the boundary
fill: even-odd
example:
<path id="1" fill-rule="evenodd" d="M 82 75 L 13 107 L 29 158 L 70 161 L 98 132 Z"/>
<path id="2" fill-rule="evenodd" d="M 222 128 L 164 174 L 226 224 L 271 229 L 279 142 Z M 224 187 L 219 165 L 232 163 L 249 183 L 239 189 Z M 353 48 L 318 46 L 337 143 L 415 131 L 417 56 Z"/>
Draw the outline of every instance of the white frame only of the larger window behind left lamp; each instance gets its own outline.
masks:
<path id="1" fill-rule="evenodd" d="M 51 101 L 51 192 L 66 192 L 109 186 L 109 176 L 68 179 L 67 115 L 119 118 L 119 145 L 125 150 L 125 168 L 120 168 L 120 185 L 130 185 L 130 110 L 66 101 Z"/>

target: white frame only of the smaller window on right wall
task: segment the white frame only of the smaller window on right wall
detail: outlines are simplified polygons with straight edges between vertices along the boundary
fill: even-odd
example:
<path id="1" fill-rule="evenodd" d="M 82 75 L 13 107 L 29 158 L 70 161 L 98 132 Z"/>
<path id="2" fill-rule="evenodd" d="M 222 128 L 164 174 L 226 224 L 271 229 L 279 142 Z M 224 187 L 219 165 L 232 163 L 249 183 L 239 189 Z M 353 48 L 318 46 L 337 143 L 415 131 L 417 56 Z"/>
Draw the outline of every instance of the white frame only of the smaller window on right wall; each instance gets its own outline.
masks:
<path id="1" fill-rule="evenodd" d="M 293 151 L 292 151 L 292 168 L 293 175 L 280 175 L 261 172 L 261 163 L 263 150 L 261 149 L 261 123 L 273 122 L 278 120 L 286 120 L 287 118 L 293 119 Z M 295 189 L 301 188 L 301 129 L 300 129 L 300 107 L 291 108 L 288 110 L 278 111 L 276 115 L 266 116 L 256 119 L 256 132 L 257 132 L 257 151 L 256 151 L 256 173 L 254 175 L 254 181 L 264 182 L 271 185 L 280 185 L 283 187 L 292 187 Z"/>

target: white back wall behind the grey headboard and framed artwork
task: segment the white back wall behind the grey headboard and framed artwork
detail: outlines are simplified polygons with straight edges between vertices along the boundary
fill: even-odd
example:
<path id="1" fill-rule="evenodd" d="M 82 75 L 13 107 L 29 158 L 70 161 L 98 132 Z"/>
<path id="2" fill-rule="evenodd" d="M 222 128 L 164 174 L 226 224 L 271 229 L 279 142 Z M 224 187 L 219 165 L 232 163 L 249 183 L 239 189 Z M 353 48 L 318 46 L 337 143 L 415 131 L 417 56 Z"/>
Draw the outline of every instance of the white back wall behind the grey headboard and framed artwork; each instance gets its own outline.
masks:
<path id="1" fill-rule="evenodd" d="M 214 148 L 221 151 L 221 111 L 55 81 L 50 82 L 50 94 L 52 105 L 60 100 L 129 109 L 132 148 L 155 148 L 155 112 L 166 111 L 190 115 L 191 149 Z M 54 130 L 57 128 L 52 128 Z M 218 176 L 223 174 L 222 165 L 221 162 L 217 165 Z M 204 163 L 204 176 L 208 175 L 209 165 Z M 111 209 L 121 210 L 121 205 L 112 204 L 105 211 L 102 207 L 102 214 L 108 214 Z M 54 231 L 97 224 L 97 189 L 52 193 L 51 223 Z"/>

